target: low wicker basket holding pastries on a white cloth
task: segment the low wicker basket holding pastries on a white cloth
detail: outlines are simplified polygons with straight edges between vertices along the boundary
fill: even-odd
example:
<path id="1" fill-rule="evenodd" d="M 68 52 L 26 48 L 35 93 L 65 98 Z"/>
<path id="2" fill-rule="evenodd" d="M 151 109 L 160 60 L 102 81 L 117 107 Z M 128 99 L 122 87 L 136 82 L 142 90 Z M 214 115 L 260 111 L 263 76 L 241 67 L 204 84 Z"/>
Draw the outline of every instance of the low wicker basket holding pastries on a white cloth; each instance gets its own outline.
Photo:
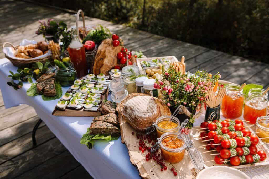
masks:
<path id="1" fill-rule="evenodd" d="M 4 42 L 2 48 L 4 48 L 6 44 L 10 45 L 14 50 L 17 50 L 17 48 L 19 47 L 19 45 L 14 46 L 12 43 Z M 14 66 L 23 68 L 23 67 L 30 67 L 35 62 L 45 63 L 46 60 L 51 60 L 51 57 L 52 56 L 49 55 L 47 57 L 43 57 L 43 58 L 35 59 L 35 60 L 30 60 L 30 59 L 25 59 L 25 60 L 13 59 L 13 58 L 7 56 L 6 54 L 5 54 L 5 57 L 7 59 L 9 59 Z"/>

